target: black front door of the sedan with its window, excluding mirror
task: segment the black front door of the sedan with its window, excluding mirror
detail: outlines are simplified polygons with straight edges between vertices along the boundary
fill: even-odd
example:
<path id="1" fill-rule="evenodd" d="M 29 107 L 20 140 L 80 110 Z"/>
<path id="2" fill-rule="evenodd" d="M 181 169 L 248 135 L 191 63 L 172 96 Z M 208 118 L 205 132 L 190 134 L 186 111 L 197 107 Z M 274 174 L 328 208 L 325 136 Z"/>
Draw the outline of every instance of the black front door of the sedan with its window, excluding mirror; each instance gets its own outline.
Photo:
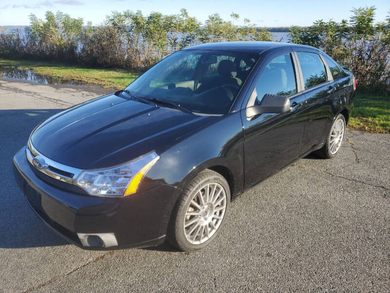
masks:
<path id="1" fill-rule="evenodd" d="M 292 108 L 287 113 L 260 114 L 241 117 L 244 128 L 244 188 L 248 188 L 278 169 L 291 163 L 301 154 L 305 127 L 305 94 L 297 83 L 296 63 L 292 50 L 275 53 L 261 65 L 246 108 L 259 105 L 265 94 L 290 97 Z M 245 104 L 245 102 L 244 102 Z"/>

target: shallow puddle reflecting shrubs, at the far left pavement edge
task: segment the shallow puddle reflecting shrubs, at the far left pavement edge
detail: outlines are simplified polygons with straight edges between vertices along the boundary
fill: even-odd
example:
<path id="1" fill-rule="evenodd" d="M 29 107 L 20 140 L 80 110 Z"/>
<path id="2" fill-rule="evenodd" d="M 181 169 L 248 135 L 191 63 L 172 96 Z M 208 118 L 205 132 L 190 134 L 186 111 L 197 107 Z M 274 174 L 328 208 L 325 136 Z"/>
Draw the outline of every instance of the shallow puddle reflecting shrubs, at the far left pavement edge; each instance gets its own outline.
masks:
<path id="1" fill-rule="evenodd" d="M 20 69 L 18 67 L 7 67 L 7 66 L 0 66 L 0 77 L 15 78 L 23 81 L 34 82 L 37 84 L 71 84 L 71 85 L 81 84 L 72 80 L 55 78 L 55 77 L 35 73 L 29 69 Z"/>

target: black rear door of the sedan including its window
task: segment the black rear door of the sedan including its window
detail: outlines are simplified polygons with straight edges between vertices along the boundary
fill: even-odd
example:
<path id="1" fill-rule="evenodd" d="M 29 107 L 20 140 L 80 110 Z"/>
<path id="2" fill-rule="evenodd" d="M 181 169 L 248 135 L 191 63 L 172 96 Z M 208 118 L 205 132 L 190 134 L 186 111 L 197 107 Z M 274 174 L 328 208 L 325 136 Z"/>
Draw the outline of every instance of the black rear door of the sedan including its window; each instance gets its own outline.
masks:
<path id="1" fill-rule="evenodd" d="M 333 81 L 331 71 L 318 51 L 294 49 L 306 96 L 306 128 L 302 150 L 323 144 L 333 118 L 334 105 L 339 103 L 340 87 Z"/>

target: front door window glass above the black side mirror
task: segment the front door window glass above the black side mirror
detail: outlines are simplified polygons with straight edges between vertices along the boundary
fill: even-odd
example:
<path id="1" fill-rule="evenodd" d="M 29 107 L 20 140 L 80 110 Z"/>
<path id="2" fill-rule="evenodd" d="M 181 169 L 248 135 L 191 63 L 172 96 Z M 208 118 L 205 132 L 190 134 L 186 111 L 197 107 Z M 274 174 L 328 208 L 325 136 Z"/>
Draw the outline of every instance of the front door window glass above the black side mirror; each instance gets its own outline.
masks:
<path id="1" fill-rule="evenodd" d="M 291 54 L 274 58 L 261 74 L 252 95 L 256 95 L 255 105 L 260 105 L 266 94 L 291 96 L 296 93 L 296 82 Z"/>

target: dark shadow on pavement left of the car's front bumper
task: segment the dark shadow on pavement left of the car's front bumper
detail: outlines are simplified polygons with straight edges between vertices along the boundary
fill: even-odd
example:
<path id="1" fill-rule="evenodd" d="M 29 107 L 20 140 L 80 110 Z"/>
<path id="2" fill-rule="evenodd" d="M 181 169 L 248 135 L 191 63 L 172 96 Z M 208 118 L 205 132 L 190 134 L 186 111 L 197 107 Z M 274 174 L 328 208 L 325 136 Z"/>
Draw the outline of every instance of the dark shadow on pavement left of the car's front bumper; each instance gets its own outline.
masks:
<path id="1" fill-rule="evenodd" d="M 31 131 L 62 109 L 0 110 L 0 248 L 66 245 L 29 207 L 16 185 L 12 159 L 27 144 Z"/>

